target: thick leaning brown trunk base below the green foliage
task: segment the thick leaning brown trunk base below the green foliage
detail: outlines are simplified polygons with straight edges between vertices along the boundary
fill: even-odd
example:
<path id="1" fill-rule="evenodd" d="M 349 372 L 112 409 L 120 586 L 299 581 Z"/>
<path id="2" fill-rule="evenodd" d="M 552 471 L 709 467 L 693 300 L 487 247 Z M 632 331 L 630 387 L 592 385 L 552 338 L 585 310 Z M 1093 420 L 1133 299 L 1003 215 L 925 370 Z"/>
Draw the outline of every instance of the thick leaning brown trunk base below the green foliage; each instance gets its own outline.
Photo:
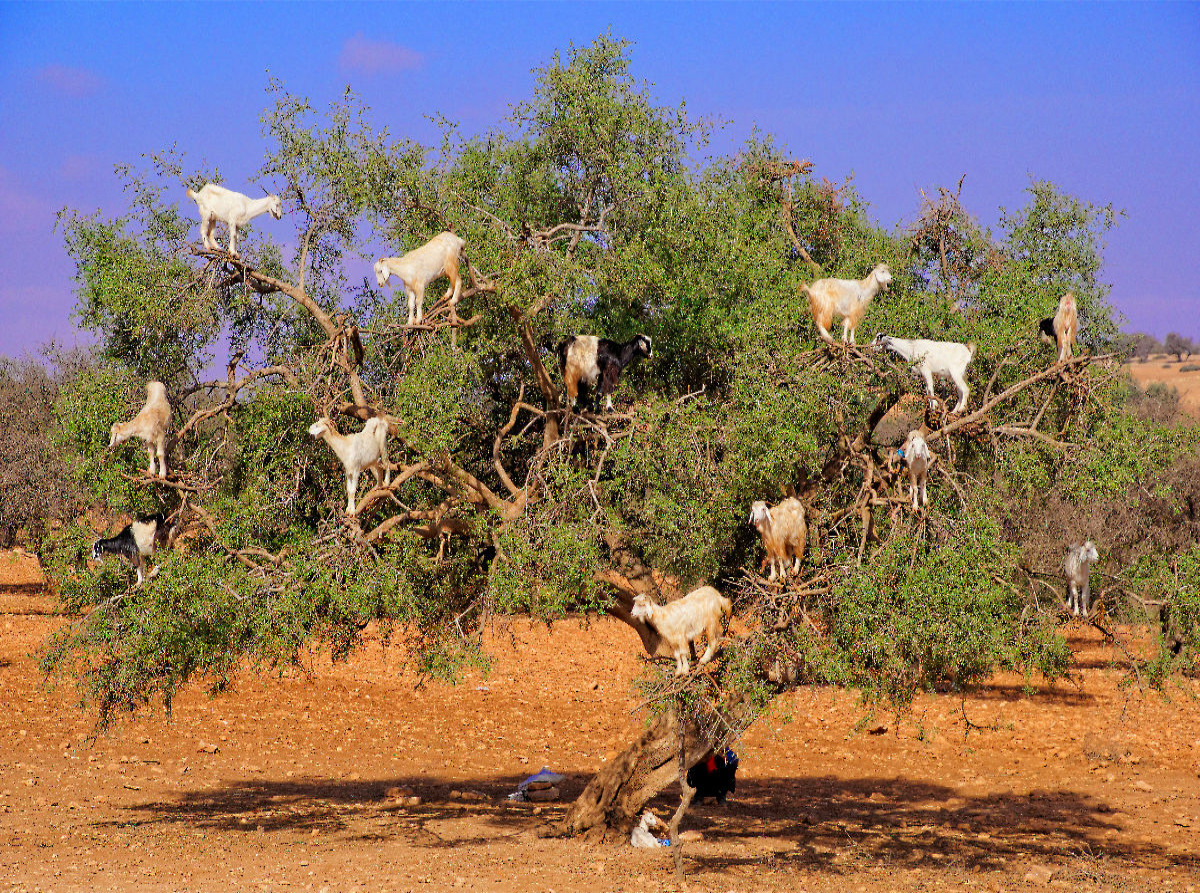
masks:
<path id="1" fill-rule="evenodd" d="M 686 730 L 684 761 L 695 765 L 709 745 Z M 628 838 L 637 816 L 660 791 L 679 778 L 679 723 L 673 712 L 659 715 L 619 756 L 598 772 L 559 822 L 544 837 L 574 837 L 598 829 L 598 837 Z"/>

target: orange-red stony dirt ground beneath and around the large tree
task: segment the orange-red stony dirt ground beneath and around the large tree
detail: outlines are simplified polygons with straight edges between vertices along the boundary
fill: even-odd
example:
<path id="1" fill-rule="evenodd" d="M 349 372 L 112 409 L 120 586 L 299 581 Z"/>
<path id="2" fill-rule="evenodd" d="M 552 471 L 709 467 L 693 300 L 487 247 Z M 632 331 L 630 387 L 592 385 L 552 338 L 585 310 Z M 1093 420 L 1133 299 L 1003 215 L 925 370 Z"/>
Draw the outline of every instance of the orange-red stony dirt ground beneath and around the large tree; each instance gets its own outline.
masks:
<path id="1" fill-rule="evenodd" d="M 46 605 L 10 588 L 36 580 L 31 561 L 0 555 L 5 611 Z M 667 852 L 538 839 L 565 805 L 505 801 L 542 765 L 574 797 L 637 730 L 641 661 L 619 623 L 512 623 L 491 673 L 457 687 L 419 687 L 398 648 L 370 645 L 216 700 L 190 691 L 172 719 L 92 742 L 31 657 L 65 622 L 0 615 L 0 893 L 679 889 Z M 780 697 L 739 749 L 730 805 L 685 819 L 703 834 L 688 889 L 1200 888 L 1200 684 L 1121 689 L 1093 629 L 1072 643 L 1070 682 L 1031 694 L 1001 677 L 860 732 L 851 694 Z"/>

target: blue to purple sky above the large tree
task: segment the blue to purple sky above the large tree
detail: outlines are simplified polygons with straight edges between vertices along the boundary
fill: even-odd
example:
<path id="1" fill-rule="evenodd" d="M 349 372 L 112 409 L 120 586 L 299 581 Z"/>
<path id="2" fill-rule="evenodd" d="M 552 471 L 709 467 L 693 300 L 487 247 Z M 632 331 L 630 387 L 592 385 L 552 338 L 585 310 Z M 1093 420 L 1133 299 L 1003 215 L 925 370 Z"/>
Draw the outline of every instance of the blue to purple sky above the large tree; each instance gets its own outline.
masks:
<path id="1" fill-rule="evenodd" d="M 1124 209 L 1102 278 L 1127 328 L 1200 336 L 1196 4 L 5 2 L 0 354 L 76 340 L 55 214 L 120 212 L 115 164 L 176 145 L 260 193 L 268 77 L 318 109 L 349 84 L 430 144 L 428 116 L 486 130 L 608 26 L 660 102 L 726 122 L 714 151 L 772 133 L 818 176 L 853 174 L 883 226 L 964 174 L 985 226 L 1031 176 Z"/>

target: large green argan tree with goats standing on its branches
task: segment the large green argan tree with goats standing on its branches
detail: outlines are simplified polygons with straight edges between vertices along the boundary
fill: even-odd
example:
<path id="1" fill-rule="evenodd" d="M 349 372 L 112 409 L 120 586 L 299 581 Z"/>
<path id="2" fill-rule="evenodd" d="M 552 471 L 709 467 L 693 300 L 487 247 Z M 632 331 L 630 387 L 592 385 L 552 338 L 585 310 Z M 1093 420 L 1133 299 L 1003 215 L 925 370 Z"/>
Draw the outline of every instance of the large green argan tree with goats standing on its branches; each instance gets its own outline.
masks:
<path id="1" fill-rule="evenodd" d="M 661 657 L 634 595 L 713 583 L 750 631 L 683 681 L 649 665 L 644 733 L 548 829 L 624 833 L 787 687 L 902 706 L 1000 667 L 1062 672 L 1066 621 L 1037 576 L 1058 559 L 1026 547 L 1020 507 L 1054 491 L 1086 515 L 1195 448 L 1194 427 L 1126 410 L 1094 278 L 1111 214 L 1049 184 L 1004 241 L 958 211 L 950 241 L 886 230 L 848 185 L 815 182 L 770 140 L 706 156 L 707 126 L 656 104 L 611 36 L 556 55 L 494 128 L 446 122 L 433 148 L 376 128 L 349 92 L 325 113 L 278 83 L 271 97 L 259 180 L 286 215 L 242 259 L 198 246 L 182 184 L 220 173 L 184 157 L 121 169 L 120 217 L 60 218 L 104 362 L 59 398 L 56 442 L 112 513 L 160 508 L 186 528 L 136 598 L 112 565 L 86 565 L 89 531 L 46 551 L 85 613 L 43 663 L 78 678 L 101 726 L 190 682 L 218 690 L 318 645 L 343 655 L 368 624 L 446 677 L 502 613 L 608 612 L 630 648 Z M 469 286 L 407 325 L 371 263 L 442 230 L 466 240 Z M 918 380 L 882 354 L 816 346 L 797 287 L 878 262 L 895 282 L 868 326 L 978 342 L 962 415 L 908 400 Z M 1052 365 L 1037 320 L 1064 284 L 1093 353 Z M 575 332 L 653 337 L 617 412 L 565 404 L 552 348 Z M 149 377 L 175 407 L 168 480 L 103 449 Z M 391 484 L 354 516 L 341 467 L 306 434 L 326 413 L 343 432 L 390 426 Z M 940 461 L 913 514 L 894 446 L 922 424 Z M 785 493 L 812 531 L 786 587 L 758 576 L 745 522 L 752 501 Z M 1181 549 L 1145 552 L 1139 580 Z"/>

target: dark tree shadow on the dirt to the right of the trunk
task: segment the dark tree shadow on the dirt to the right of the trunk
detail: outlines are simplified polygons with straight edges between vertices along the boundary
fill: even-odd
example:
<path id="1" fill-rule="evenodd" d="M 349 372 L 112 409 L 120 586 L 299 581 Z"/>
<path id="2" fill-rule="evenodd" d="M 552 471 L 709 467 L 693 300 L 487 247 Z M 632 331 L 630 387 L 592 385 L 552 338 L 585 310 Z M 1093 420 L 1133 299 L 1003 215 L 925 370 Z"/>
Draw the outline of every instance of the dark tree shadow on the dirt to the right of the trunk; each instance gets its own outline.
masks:
<path id="1" fill-rule="evenodd" d="M 673 809 L 676 803 L 662 795 L 655 805 Z M 1124 833 L 1122 814 L 1074 791 L 972 796 L 902 778 L 776 779 L 739 783 L 727 808 L 695 807 L 686 825 L 701 831 L 706 841 L 745 850 L 745 856 L 731 856 L 724 847 L 688 853 L 695 868 L 714 871 L 761 865 L 764 850 L 772 851 L 773 865 L 791 863 L 834 874 L 865 863 L 995 871 L 1012 861 L 1052 862 L 1080 855 L 1200 869 L 1196 855 L 1133 839 Z"/>

